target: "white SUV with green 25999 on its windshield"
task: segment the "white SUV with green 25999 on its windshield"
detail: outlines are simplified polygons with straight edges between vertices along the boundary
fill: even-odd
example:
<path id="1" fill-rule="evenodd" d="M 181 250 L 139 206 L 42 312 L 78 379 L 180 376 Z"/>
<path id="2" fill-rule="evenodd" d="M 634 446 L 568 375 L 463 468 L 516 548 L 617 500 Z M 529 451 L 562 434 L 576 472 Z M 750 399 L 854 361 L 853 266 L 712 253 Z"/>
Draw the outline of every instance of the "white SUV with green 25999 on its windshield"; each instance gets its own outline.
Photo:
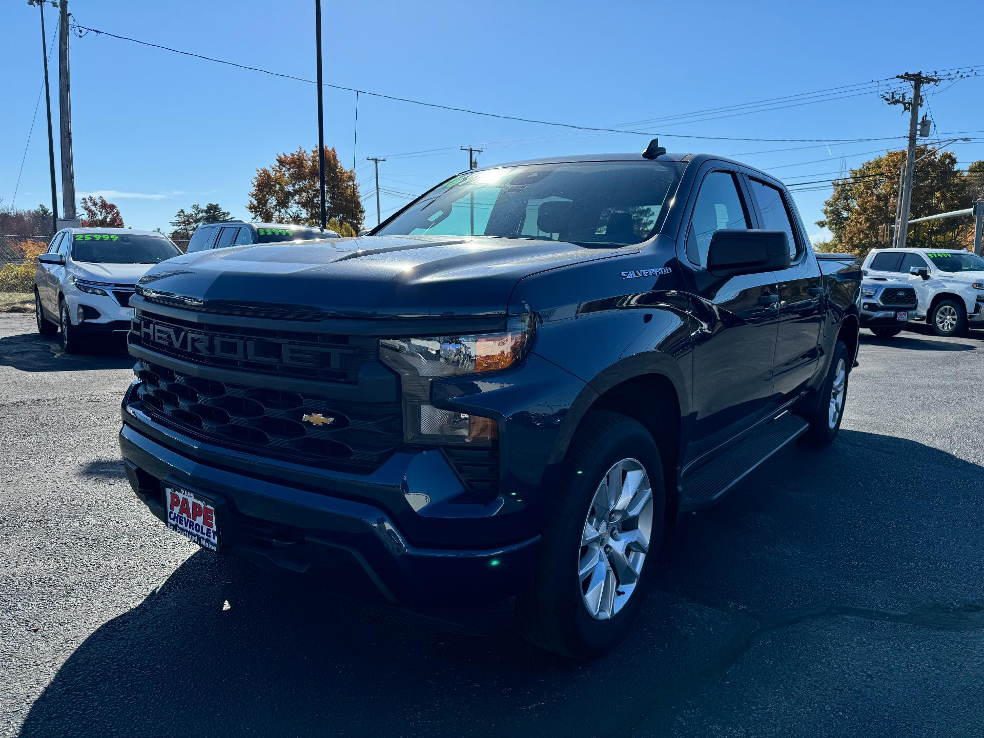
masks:
<path id="1" fill-rule="evenodd" d="M 137 280 L 181 252 L 166 236 L 129 228 L 65 228 L 37 258 L 34 318 L 37 331 L 61 331 L 62 346 L 74 353 L 93 334 L 125 334 Z"/>

